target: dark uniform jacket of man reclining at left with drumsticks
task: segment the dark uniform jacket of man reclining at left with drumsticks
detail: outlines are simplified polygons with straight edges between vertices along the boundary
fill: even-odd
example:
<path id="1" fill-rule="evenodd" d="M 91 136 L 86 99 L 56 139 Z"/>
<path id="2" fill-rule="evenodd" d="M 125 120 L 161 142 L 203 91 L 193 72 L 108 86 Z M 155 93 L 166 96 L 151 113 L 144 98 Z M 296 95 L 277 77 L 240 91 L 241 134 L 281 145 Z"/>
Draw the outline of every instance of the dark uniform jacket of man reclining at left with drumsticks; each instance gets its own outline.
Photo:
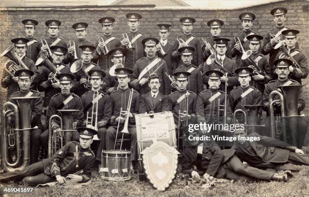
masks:
<path id="1" fill-rule="evenodd" d="M 91 178 L 94 161 L 94 153 L 90 148 L 83 149 L 78 142 L 70 141 L 52 158 L 43 160 L 44 173 L 54 177 L 56 175 L 67 176 L 83 170 L 82 182 L 87 182 Z"/>

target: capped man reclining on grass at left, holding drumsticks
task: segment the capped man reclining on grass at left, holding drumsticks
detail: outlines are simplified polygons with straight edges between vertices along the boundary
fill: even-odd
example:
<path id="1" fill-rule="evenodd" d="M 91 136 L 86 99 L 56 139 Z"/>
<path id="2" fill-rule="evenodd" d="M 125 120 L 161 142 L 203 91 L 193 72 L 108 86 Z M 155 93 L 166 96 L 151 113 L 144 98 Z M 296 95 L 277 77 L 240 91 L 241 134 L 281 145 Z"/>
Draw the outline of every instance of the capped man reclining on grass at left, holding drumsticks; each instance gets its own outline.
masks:
<path id="1" fill-rule="evenodd" d="M 96 131 L 86 127 L 80 127 L 77 130 L 79 143 L 70 141 L 52 158 L 31 164 L 23 170 L 0 174 L 0 182 L 22 180 L 23 183 L 36 186 L 57 180 L 63 184 L 66 182 L 64 176 L 74 182 L 89 181 L 95 160 L 94 153 L 90 150 L 90 144 Z M 80 170 L 83 170 L 81 175 L 73 174 Z"/>

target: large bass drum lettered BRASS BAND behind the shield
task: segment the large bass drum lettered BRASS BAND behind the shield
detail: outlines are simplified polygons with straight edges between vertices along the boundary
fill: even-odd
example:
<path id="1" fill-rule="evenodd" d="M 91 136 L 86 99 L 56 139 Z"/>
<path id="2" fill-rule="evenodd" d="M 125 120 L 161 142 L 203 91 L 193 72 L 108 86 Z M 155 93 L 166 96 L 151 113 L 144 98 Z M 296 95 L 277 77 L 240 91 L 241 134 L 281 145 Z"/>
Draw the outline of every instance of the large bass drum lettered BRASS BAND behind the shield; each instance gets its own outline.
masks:
<path id="1" fill-rule="evenodd" d="M 174 117 L 170 111 L 151 114 L 151 116 L 149 114 L 138 114 L 135 116 L 135 121 L 138 150 L 138 177 L 139 180 L 145 180 L 140 153 L 154 141 L 163 141 L 172 147 L 177 146 Z"/>

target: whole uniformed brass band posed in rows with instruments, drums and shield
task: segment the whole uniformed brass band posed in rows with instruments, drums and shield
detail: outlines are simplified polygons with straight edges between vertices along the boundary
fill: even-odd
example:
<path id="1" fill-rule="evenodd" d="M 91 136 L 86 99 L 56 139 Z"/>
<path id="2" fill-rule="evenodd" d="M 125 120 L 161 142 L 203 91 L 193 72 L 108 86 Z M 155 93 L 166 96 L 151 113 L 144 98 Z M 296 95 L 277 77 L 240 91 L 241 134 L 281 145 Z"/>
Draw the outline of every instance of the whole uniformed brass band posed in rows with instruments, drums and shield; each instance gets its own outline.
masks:
<path id="1" fill-rule="evenodd" d="M 221 19 L 205 21 L 212 36 L 197 37 L 197 19 L 184 16 L 176 40 L 168 23 L 158 21 L 157 37 L 140 32 L 142 15 L 135 12 L 126 14 L 128 31 L 116 37 L 118 19 L 108 15 L 93 19 L 102 30 L 95 43 L 83 21 L 72 25 L 75 40 L 60 37 L 60 20 L 44 22 L 45 39 L 35 37 L 43 21 L 20 21 L 25 35 L 1 55 L 7 102 L 0 182 L 86 183 L 95 171 L 109 181 L 138 177 L 159 190 L 177 174 L 288 181 L 309 166 L 302 150 L 309 69 L 298 46 L 302 32 L 285 25 L 288 10 L 269 12 L 274 28 L 265 35 L 251 30 L 256 16 L 245 12 L 232 38 L 221 36 Z M 244 127 L 189 132 L 200 123 Z M 259 140 L 245 140 L 251 137 Z"/>

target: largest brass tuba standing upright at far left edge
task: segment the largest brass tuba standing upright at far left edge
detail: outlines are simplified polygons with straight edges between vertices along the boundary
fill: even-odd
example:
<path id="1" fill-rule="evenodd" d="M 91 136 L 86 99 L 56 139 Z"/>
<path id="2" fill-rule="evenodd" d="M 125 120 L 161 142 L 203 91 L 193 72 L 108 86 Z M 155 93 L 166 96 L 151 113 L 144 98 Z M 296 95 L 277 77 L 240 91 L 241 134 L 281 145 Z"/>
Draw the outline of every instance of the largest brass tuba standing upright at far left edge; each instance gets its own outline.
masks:
<path id="1" fill-rule="evenodd" d="M 4 171 L 12 172 L 23 170 L 30 164 L 30 130 L 32 103 L 38 97 L 12 97 L 6 102 L 2 111 L 2 134 L 1 134 L 1 161 Z M 7 124 L 7 116 L 14 113 L 15 125 L 10 128 Z M 16 161 L 10 160 L 9 149 L 16 149 Z"/>

